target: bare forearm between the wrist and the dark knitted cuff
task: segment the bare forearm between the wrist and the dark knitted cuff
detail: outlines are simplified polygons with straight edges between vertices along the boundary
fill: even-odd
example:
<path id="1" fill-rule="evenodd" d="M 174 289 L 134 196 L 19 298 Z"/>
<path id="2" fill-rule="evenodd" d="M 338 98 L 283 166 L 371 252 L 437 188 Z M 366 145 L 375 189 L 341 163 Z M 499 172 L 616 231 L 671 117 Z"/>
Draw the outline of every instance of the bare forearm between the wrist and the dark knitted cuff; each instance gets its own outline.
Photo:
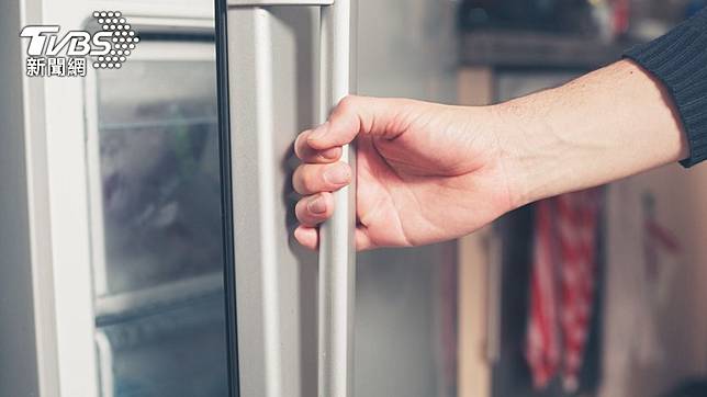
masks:
<path id="1" fill-rule="evenodd" d="M 688 156 L 671 98 L 629 60 L 492 111 L 515 206 Z"/>

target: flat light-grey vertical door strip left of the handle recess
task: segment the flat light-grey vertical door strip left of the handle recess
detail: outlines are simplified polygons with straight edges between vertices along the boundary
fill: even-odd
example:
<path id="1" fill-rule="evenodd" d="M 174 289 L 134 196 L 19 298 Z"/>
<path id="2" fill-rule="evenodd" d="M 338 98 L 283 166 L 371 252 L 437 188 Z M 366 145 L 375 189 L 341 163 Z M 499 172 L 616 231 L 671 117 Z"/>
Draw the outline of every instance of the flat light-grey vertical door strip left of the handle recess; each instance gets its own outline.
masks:
<path id="1" fill-rule="evenodd" d="M 281 396 L 278 262 L 272 181 L 272 58 L 270 14 L 228 13 L 234 193 L 234 254 L 240 394 Z M 251 100 L 245 100 L 250 98 Z M 242 193 L 243 192 L 243 193 Z M 246 193 L 250 192 L 250 193 Z"/>

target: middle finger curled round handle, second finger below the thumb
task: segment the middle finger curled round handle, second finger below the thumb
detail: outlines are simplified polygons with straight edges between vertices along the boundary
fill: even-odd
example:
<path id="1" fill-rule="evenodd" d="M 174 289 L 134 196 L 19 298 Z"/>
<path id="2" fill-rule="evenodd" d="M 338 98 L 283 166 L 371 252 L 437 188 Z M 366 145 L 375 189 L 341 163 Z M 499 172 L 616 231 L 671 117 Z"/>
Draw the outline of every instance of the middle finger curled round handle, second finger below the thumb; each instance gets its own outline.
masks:
<path id="1" fill-rule="evenodd" d="M 344 162 L 302 165 L 292 174 L 294 191 L 303 195 L 334 192 L 350 182 L 351 168 Z"/>

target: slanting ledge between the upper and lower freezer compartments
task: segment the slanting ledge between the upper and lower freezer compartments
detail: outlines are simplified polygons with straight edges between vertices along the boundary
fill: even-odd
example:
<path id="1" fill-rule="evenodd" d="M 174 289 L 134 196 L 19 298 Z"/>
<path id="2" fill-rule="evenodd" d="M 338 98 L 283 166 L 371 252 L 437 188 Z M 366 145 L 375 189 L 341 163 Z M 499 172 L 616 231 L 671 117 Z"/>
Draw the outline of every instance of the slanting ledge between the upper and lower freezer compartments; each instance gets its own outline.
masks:
<path id="1" fill-rule="evenodd" d="M 106 327 L 221 296 L 223 296 L 221 272 L 139 291 L 105 295 L 96 300 L 96 325 L 99 328 Z"/>

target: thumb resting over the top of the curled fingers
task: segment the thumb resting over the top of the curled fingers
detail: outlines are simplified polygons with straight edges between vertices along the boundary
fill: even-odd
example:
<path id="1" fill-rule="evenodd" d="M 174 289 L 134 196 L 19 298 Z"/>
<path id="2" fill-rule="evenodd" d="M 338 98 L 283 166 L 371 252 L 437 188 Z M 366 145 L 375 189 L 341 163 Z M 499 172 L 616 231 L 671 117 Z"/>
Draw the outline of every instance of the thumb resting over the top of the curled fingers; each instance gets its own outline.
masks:
<path id="1" fill-rule="evenodd" d="M 393 139 L 403 133 L 397 122 L 413 104 L 414 101 L 403 99 L 346 97 L 332 111 L 329 120 L 310 134 L 307 144 L 326 150 L 351 143 L 358 134 Z"/>

